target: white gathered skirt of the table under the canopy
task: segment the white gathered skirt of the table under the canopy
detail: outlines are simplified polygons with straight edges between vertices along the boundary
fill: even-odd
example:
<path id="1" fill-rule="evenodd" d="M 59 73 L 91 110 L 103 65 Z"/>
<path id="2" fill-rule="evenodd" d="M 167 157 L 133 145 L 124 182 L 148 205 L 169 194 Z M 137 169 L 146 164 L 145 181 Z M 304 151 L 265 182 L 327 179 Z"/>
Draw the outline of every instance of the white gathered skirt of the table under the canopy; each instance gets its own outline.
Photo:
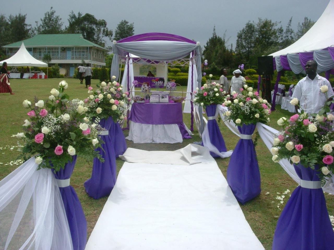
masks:
<path id="1" fill-rule="evenodd" d="M 182 143 L 177 124 L 151 125 L 130 121 L 129 136 L 134 143 Z"/>

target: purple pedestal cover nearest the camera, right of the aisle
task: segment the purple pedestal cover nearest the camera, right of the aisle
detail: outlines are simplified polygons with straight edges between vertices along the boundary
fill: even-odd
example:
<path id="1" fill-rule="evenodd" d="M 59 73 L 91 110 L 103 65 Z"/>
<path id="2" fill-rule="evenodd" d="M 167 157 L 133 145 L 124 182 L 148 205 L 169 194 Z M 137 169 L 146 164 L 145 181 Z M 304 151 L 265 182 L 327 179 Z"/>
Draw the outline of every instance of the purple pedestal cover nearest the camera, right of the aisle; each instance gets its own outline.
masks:
<path id="1" fill-rule="evenodd" d="M 300 163 L 294 167 L 302 180 L 319 181 L 317 171 Z M 298 186 L 292 192 L 277 221 L 272 249 L 334 249 L 334 233 L 322 188 Z"/>

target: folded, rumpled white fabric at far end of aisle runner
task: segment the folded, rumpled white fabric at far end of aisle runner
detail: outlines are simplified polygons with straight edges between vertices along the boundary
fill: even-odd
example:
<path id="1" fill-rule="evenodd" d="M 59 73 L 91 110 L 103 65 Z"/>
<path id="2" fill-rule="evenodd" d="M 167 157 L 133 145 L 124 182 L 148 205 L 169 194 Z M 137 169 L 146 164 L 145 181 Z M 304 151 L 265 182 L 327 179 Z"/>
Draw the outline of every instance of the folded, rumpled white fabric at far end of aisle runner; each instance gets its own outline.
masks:
<path id="1" fill-rule="evenodd" d="M 120 155 L 120 158 L 127 162 L 136 163 L 192 165 L 200 163 L 200 161 L 194 160 L 192 155 L 204 154 L 205 151 L 204 147 L 195 144 L 189 144 L 175 151 L 146 151 L 128 148 L 123 155 Z"/>

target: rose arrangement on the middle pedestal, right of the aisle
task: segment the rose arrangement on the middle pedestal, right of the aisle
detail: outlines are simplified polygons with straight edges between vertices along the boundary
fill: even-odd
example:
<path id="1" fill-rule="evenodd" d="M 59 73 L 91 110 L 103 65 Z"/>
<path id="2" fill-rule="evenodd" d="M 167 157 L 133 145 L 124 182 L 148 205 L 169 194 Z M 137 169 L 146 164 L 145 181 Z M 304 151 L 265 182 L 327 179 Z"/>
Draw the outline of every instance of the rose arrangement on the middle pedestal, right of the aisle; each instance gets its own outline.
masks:
<path id="1" fill-rule="evenodd" d="M 233 91 L 232 97 L 227 95 L 224 99 L 222 105 L 229 109 L 224 116 L 228 120 L 233 120 L 236 125 L 268 123 L 270 121 L 268 116 L 271 113 L 271 105 L 268 101 L 260 98 L 259 93 L 253 92 L 253 88 L 247 85 L 244 85 L 240 91 L 240 94 Z"/>

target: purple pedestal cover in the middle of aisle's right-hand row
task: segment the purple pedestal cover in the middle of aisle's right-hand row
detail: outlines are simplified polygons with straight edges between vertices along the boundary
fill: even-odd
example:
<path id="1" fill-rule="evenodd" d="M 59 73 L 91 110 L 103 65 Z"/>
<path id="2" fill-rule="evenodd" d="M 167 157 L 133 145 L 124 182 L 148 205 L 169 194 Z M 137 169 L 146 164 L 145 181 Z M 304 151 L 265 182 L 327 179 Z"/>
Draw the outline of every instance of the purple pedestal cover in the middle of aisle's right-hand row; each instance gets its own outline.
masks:
<path id="1" fill-rule="evenodd" d="M 252 135 L 256 125 L 238 126 L 240 134 Z M 259 164 L 253 140 L 240 139 L 230 157 L 227 167 L 227 183 L 235 198 L 241 203 L 253 199 L 261 192 Z"/>

